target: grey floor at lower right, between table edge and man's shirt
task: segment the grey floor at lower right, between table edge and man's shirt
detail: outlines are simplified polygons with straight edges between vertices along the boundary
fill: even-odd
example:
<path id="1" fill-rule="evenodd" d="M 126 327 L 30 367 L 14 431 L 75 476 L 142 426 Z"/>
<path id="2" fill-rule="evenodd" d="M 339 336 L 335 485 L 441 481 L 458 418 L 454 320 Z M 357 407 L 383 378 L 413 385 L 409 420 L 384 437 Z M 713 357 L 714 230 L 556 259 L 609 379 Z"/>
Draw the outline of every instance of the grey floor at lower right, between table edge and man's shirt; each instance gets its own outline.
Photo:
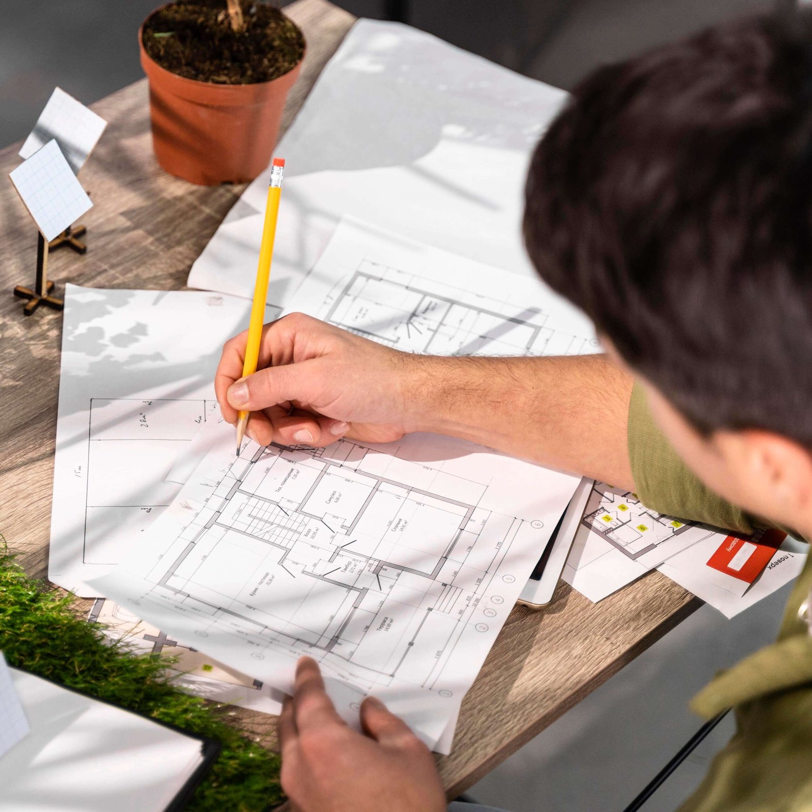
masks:
<path id="1" fill-rule="evenodd" d="M 702 724 L 687 707 L 693 694 L 775 637 L 788 594 L 786 587 L 733 620 L 702 607 L 470 794 L 512 812 L 622 812 Z M 675 810 L 731 733 L 728 718 L 644 812 Z"/>

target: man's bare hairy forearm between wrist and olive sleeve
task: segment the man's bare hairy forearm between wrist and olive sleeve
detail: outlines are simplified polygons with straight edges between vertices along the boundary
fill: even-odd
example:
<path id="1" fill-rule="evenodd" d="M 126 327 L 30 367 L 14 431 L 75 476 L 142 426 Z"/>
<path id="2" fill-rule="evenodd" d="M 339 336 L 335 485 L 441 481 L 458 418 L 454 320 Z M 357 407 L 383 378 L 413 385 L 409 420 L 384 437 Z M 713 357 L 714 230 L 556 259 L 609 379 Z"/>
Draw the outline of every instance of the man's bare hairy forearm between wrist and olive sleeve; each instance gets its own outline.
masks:
<path id="1" fill-rule="evenodd" d="M 415 430 L 633 490 L 626 434 L 633 379 L 607 356 L 421 360 L 409 395 L 420 415 Z"/>

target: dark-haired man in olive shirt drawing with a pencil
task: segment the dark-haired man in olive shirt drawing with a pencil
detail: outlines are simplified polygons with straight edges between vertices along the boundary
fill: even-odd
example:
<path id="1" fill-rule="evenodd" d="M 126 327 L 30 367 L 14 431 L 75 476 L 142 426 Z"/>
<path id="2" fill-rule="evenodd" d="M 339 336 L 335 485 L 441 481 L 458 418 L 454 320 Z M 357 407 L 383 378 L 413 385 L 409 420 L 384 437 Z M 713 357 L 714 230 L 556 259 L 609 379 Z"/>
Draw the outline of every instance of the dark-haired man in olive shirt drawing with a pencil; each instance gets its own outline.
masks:
<path id="1" fill-rule="evenodd" d="M 812 534 L 812 37 L 757 18 L 605 67 L 529 170 L 525 242 L 607 354 L 441 358 L 294 314 L 245 335 L 216 387 L 260 443 L 434 431 L 635 490 L 659 512 Z M 598 443 L 598 438 L 600 442 Z M 757 518 L 760 517 L 760 518 Z M 812 565 L 779 640 L 694 701 L 739 729 L 684 812 L 812 809 Z M 341 723 L 303 659 L 280 717 L 306 812 L 445 809 L 427 749 L 374 699 Z"/>

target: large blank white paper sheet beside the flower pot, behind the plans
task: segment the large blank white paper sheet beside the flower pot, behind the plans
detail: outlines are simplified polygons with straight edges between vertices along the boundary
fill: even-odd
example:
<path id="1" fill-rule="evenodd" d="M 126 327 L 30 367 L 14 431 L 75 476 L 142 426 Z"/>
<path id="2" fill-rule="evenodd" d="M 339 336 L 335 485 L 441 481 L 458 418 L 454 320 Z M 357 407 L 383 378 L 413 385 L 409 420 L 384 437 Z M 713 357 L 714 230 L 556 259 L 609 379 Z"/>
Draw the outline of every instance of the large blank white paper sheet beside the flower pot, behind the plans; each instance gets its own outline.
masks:
<path id="1" fill-rule="evenodd" d="M 520 236 L 526 166 L 566 98 L 415 28 L 359 20 L 277 148 L 268 301 L 287 306 L 344 214 L 533 275 Z M 251 296 L 267 184 L 263 173 L 227 214 L 190 286 Z"/>

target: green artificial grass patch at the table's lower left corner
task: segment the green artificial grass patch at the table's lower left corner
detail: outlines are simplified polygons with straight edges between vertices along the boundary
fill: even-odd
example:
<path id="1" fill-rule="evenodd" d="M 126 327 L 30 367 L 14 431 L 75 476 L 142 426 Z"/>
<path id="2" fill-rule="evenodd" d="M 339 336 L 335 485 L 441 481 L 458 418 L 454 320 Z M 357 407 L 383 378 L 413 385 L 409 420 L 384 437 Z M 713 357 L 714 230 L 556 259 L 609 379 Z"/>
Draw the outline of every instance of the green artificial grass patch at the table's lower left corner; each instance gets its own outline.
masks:
<path id="1" fill-rule="evenodd" d="M 0 538 L 2 545 L 2 538 Z M 29 578 L 0 547 L 0 651 L 9 665 L 222 744 L 189 812 L 265 812 L 283 800 L 279 757 L 225 723 L 218 706 L 175 689 L 171 661 L 105 641 L 71 596 Z"/>

